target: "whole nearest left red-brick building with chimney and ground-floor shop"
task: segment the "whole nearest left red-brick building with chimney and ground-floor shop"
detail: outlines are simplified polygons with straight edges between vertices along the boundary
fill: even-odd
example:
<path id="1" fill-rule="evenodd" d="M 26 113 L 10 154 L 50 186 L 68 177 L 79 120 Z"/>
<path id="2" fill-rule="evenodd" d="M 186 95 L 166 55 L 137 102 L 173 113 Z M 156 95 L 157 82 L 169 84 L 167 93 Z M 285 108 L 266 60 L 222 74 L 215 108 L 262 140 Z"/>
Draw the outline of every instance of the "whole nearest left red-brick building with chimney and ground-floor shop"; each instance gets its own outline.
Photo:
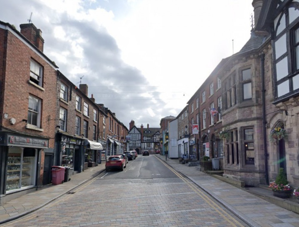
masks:
<path id="1" fill-rule="evenodd" d="M 0 21 L 0 203 L 42 185 L 54 154 L 57 66 L 41 30 L 20 27 Z"/>

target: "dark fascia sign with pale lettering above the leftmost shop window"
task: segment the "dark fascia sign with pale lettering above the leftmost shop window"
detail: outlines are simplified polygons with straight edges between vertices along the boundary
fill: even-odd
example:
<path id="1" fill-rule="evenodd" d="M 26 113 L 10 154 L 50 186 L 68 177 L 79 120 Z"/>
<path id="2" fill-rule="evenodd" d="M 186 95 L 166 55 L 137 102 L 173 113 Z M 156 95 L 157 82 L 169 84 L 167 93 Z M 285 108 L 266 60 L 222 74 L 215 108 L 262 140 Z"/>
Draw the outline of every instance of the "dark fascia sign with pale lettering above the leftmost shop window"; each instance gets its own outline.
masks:
<path id="1" fill-rule="evenodd" d="M 34 139 L 25 136 L 8 135 L 7 145 L 23 145 L 32 147 L 48 147 L 48 140 Z"/>

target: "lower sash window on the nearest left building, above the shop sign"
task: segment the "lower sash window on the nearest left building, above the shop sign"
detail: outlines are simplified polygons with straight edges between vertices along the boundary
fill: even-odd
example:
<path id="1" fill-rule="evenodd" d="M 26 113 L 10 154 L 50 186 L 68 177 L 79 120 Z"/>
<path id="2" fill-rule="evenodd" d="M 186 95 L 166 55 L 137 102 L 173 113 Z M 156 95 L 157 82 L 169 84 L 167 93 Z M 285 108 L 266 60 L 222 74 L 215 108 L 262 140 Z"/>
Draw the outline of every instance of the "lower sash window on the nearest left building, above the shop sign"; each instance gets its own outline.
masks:
<path id="1" fill-rule="evenodd" d="M 40 128 L 41 103 L 41 99 L 35 96 L 29 96 L 27 123 L 30 125 L 35 125 L 38 128 Z M 36 121 L 36 123 L 33 121 Z"/>

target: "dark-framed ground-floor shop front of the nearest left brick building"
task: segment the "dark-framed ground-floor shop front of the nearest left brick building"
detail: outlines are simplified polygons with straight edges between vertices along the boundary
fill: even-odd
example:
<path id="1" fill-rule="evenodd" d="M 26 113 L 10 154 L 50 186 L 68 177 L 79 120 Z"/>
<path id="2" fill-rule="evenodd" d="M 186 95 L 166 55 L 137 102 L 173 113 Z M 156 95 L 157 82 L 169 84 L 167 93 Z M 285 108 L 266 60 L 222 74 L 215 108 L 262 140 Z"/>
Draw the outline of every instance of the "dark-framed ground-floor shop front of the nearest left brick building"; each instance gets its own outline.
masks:
<path id="1" fill-rule="evenodd" d="M 48 138 L 19 134 L 0 134 L 0 204 L 35 191 L 41 184 L 41 156 L 48 149 Z M 29 191 L 29 192 L 24 192 Z M 22 193 L 20 193 L 22 192 Z"/>

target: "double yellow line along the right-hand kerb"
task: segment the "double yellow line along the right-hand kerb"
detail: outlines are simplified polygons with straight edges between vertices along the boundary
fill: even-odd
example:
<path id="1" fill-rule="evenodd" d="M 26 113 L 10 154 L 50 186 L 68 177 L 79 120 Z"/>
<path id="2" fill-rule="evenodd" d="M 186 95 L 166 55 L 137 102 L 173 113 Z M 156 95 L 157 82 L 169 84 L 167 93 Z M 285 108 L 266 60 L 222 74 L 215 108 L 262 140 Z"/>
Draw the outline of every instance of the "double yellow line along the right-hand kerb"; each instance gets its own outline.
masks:
<path id="1" fill-rule="evenodd" d="M 167 168 L 169 168 L 176 176 L 178 176 L 182 181 L 184 181 L 196 194 L 199 195 L 211 208 L 213 208 L 221 217 L 223 217 L 224 220 L 226 220 L 228 223 L 231 224 L 233 227 L 243 226 L 241 223 L 239 223 L 238 220 L 235 219 L 235 217 L 231 216 L 227 211 L 225 211 L 221 206 L 219 206 L 217 203 L 215 203 L 204 191 L 200 190 L 197 185 L 193 182 L 190 182 L 189 180 L 186 180 L 179 172 L 177 172 L 173 167 L 165 163 L 160 158 L 156 157 L 160 162 L 163 163 Z M 196 185 L 196 186 L 195 186 Z M 228 218 L 230 217 L 230 219 Z"/>

